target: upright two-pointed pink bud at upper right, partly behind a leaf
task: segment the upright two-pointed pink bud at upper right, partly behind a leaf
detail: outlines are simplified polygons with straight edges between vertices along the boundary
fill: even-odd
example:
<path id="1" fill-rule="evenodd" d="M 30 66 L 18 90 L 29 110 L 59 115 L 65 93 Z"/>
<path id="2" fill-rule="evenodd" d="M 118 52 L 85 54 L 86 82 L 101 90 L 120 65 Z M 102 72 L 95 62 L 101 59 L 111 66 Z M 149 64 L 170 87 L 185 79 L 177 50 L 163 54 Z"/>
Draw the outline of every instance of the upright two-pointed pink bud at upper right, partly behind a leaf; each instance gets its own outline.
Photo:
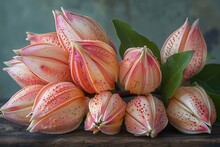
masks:
<path id="1" fill-rule="evenodd" d="M 168 37 L 161 49 L 162 63 L 175 53 L 194 51 L 194 56 L 184 70 L 183 76 L 186 80 L 199 73 L 206 61 L 207 47 L 198 23 L 199 20 L 196 20 L 190 28 L 186 19 L 185 23 Z"/>

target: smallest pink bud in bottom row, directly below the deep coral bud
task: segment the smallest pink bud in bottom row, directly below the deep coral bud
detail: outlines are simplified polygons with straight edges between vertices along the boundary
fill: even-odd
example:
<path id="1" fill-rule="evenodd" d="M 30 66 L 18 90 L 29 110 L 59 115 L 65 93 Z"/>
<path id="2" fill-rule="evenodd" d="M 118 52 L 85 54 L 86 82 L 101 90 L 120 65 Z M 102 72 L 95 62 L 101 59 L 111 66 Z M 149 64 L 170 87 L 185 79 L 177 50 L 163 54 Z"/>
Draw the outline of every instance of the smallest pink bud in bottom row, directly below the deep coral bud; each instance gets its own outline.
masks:
<path id="1" fill-rule="evenodd" d="M 118 94 L 101 92 L 89 101 L 85 130 L 113 135 L 120 131 L 126 103 Z"/>

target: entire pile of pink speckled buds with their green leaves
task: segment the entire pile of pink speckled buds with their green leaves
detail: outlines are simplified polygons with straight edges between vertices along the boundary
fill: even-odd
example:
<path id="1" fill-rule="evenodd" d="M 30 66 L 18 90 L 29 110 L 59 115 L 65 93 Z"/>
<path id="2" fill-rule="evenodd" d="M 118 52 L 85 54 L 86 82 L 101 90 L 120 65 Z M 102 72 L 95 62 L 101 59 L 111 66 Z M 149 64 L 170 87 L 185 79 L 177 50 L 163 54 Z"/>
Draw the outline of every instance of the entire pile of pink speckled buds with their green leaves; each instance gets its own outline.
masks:
<path id="1" fill-rule="evenodd" d="M 159 50 L 114 19 L 117 50 L 94 19 L 61 10 L 53 11 L 56 32 L 27 32 L 30 45 L 5 62 L 21 90 L 1 117 L 48 134 L 74 131 L 83 120 L 94 134 L 117 134 L 123 122 L 135 136 L 156 137 L 168 122 L 183 133 L 211 133 L 220 118 L 220 64 L 206 64 L 198 20 L 190 27 L 186 19 Z"/>

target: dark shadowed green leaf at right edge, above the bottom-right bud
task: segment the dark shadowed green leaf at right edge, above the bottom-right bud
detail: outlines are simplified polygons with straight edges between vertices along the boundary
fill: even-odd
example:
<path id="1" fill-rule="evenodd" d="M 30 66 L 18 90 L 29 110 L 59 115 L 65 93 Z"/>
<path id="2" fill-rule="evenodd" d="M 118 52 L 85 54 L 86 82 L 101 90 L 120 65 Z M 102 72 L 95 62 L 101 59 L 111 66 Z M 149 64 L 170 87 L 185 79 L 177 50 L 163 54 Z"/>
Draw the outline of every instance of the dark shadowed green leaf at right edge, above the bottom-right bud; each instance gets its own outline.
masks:
<path id="1" fill-rule="evenodd" d="M 208 93 L 220 96 L 220 64 L 205 65 L 199 74 L 191 78 L 190 82 L 196 82 Z"/>

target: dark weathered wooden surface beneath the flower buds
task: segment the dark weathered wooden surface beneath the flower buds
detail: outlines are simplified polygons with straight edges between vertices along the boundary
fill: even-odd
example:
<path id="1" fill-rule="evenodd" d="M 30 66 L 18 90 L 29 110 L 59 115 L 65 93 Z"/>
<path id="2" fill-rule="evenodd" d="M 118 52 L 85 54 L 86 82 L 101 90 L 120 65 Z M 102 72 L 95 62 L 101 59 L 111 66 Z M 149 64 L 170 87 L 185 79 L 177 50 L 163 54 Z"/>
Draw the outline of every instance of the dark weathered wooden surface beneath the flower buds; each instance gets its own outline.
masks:
<path id="1" fill-rule="evenodd" d="M 2 146 L 220 146 L 220 123 L 215 123 L 212 134 L 185 135 L 179 133 L 172 126 L 168 126 L 156 138 L 135 137 L 126 132 L 123 127 L 117 135 L 109 136 L 102 133 L 95 135 L 83 130 L 80 126 L 71 133 L 62 135 L 48 135 L 29 133 L 25 126 L 17 125 L 0 118 L 0 147 Z"/>

